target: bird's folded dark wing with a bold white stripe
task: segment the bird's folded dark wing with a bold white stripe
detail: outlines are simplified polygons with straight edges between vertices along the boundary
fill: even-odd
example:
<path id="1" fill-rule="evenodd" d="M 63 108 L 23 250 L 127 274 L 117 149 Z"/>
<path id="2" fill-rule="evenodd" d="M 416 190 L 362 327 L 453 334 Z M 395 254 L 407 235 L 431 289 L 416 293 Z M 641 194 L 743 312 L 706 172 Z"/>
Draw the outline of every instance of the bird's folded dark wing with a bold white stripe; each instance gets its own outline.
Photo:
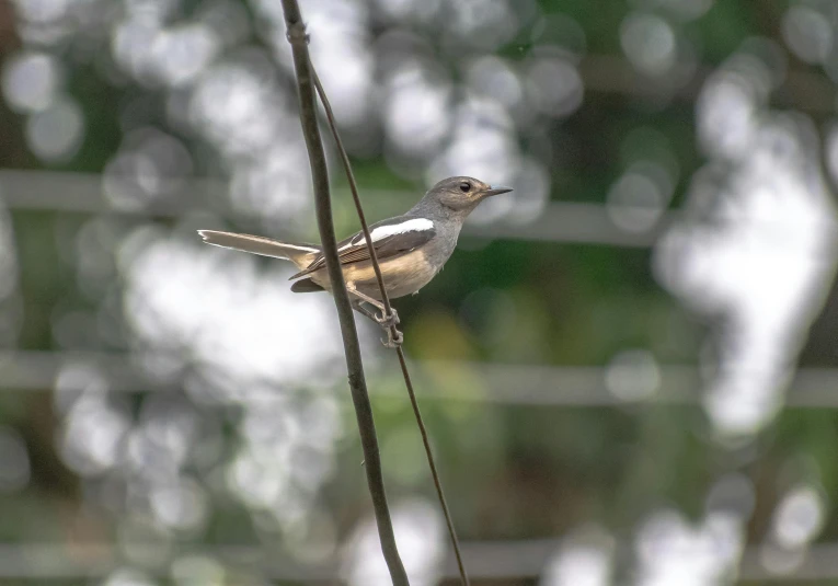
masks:
<path id="1" fill-rule="evenodd" d="M 376 256 L 379 260 L 394 256 L 399 253 L 412 251 L 436 235 L 434 222 L 427 218 L 401 216 L 376 222 L 369 227 L 369 235 Z M 364 232 L 357 232 L 337 243 L 337 257 L 341 264 L 352 264 L 369 260 L 369 249 L 364 238 Z M 321 252 L 309 266 L 291 277 L 291 279 L 313 273 L 325 266 L 325 257 Z"/>

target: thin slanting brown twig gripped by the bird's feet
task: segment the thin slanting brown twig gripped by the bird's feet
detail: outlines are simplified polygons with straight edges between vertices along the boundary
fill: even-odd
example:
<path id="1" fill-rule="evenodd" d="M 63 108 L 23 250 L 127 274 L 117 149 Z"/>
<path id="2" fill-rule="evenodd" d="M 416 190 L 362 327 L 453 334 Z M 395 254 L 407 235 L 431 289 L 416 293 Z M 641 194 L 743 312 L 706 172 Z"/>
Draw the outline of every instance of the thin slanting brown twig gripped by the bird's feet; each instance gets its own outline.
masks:
<path id="1" fill-rule="evenodd" d="M 358 195 L 358 185 L 355 182 L 355 173 L 352 171 L 352 163 L 349 162 L 349 156 L 346 154 L 346 149 L 343 147 L 343 140 L 341 140 L 341 134 L 337 131 L 337 125 L 335 124 L 334 113 L 332 112 L 332 104 L 329 103 L 323 84 L 320 83 L 314 65 L 311 64 L 311 74 L 317 87 L 320 100 L 325 108 L 326 119 L 329 120 L 329 127 L 334 136 L 334 141 L 337 145 L 337 151 L 341 153 L 341 161 L 343 161 L 344 170 L 346 171 L 346 179 L 349 181 L 349 189 L 352 191 L 352 198 L 355 202 L 355 209 L 358 211 L 358 220 L 360 221 L 360 229 L 364 232 L 364 238 L 367 241 L 367 250 L 369 251 L 369 257 L 372 262 L 372 268 L 376 272 L 376 279 L 378 280 L 378 288 L 381 292 L 381 301 L 384 305 L 384 311 L 389 315 L 392 311 L 390 306 L 390 298 L 387 295 L 387 288 L 384 287 L 384 279 L 381 276 L 381 268 L 378 266 L 378 256 L 376 255 L 376 248 L 372 245 L 372 238 L 369 235 L 369 227 L 367 226 L 367 218 L 364 215 L 364 207 L 360 205 L 360 196 Z M 395 335 L 395 326 L 390 326 L 391 335 Z M 454 521 L 451 520 L 451 513 L 448 509 L 448 503 L 445 499 L 445 493 L 443 492 L 443 484 L 439 481 L 439 473 L 436 470 L 436 462 L 434 461 L 434 452 L 431 449 L 431 440 L 425 429 L 425 423 L 422 420 L 422 412 L 416 401 L 416 394 L 413 392 L 413 381 L 411 380 L 410 372 L 407 371 L 407 361 L 404 358 L 404 351 L 401 346 L 395 349 L 399 355 L 399 364 L 402 367 L 402 376 L 404 377 L 404 386 L 407 388 L 407 394 L 411 399 L 411 406 L 413 407 L 413 414 L 416 417 L 416 425 L 418 425 L 420 434 L 422 435 L 422 443 L 425 446 L 425 456 L 427 457 L 427 463 L 431 467 L 431 475 L 434 479 L 434 487 L 436 489 L 436 495 L 439 498 L 439 505 L 443 507 L 443 514 L 445 515 L 445 522 L 448 526 L 448 535 L 451 538 L 451 545 L 454 547 L 454 554 L 457 559 L 457 567 L 460 571 L 460 581 L 463 586 L 469 586 L 469 576 L 466 573 L 466 565 L 462 563 L 462 554 L 460 553 L 460 542 L 457 539 L 457 531 L 454 528 Z"/>

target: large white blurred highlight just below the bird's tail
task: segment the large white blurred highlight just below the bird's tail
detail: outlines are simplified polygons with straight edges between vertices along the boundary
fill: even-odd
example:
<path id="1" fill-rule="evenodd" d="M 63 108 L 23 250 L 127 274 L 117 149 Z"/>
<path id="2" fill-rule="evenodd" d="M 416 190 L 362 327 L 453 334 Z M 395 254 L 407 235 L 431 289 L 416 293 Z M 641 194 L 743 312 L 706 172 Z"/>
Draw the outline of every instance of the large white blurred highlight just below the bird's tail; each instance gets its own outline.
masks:
<path id="1" fill-rule="evenodd" d="M 295 295 L 285 263 L 263 275 L 252 256 L 148 232 L 123 249 L 125 309 L 147 344 L 182 352 L 230 380 L 295 383 L 342 356 L 328 296 Z"/>

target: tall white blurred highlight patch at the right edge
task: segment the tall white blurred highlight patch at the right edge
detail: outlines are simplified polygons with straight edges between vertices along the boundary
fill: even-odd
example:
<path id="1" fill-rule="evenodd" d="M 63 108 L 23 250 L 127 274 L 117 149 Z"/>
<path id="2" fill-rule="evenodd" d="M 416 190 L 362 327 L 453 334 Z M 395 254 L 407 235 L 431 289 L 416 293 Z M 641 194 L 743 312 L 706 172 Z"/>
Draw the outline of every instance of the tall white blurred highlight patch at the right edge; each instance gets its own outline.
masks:
<path id="1" fill-rule="evenodd" d="M 693 311 L 724 319 L 704 399 L 722 436 L 751 435 L 781 407 L 838 258 L 836 209 L 811 162 L 806 126 L 757 118 L 761 89 L 746 82 L 725 72 L 708 81 L 699 128 L 731 171 L 711 163 L 693 177 L 684 220 L 655 252 L 665 287 Z M 725 131 L 731 112 L 748 113 L 748 122 Z"/>

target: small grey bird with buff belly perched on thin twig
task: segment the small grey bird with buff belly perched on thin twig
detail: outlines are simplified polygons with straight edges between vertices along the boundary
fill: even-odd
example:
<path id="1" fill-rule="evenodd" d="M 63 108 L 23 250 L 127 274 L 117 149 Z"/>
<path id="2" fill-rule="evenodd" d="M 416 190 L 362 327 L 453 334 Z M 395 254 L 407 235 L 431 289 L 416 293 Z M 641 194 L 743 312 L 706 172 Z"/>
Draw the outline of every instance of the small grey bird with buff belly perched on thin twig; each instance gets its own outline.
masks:
<path id="1" fill-rule="evenodd" d="M 388 297 L 415 294 L 427 285 L 454 253 L 469 214 L 487 197 L 512 191 L 474 177 L 448 177 L 428 189 L 405 214 L 370 225 L 369 233 Z M 315 244 L 218 230 L 198 230 L 198 234 L 207 244 L 290 261 L 298 269 L 289 278 L 295 281 L 294 292 L 332 289 L 325 257 Z M 337 255 L 353 309 L 384 328 L 386 346 L 400 345 L 403 335 L 394 328 L 400 323 L 399 314 L 395 309 L 386 314 L 364 232 L 338 242 Z M 378 309 L 380 314 L 367 306 Z"/>

